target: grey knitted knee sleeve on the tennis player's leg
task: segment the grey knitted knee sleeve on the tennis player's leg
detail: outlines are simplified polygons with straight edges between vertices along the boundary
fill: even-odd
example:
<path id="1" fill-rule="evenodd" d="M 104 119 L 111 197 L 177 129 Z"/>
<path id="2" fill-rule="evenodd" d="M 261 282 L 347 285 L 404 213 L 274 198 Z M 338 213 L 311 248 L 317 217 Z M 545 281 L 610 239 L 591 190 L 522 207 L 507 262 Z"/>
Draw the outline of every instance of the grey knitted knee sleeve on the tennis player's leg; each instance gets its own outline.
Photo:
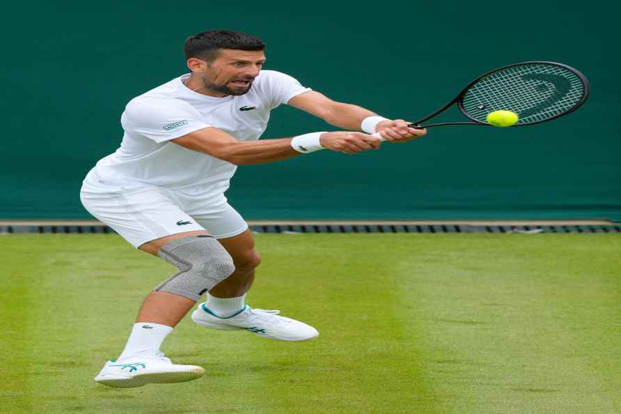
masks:
<path id="1" fill-rule="evenodd" d="M 235 270 L 233 259 L 214 236 L 195 234 L 166 243 L 157 254 L 179 268 L 179 273 L 155 288 L 194 301 Z"/>

